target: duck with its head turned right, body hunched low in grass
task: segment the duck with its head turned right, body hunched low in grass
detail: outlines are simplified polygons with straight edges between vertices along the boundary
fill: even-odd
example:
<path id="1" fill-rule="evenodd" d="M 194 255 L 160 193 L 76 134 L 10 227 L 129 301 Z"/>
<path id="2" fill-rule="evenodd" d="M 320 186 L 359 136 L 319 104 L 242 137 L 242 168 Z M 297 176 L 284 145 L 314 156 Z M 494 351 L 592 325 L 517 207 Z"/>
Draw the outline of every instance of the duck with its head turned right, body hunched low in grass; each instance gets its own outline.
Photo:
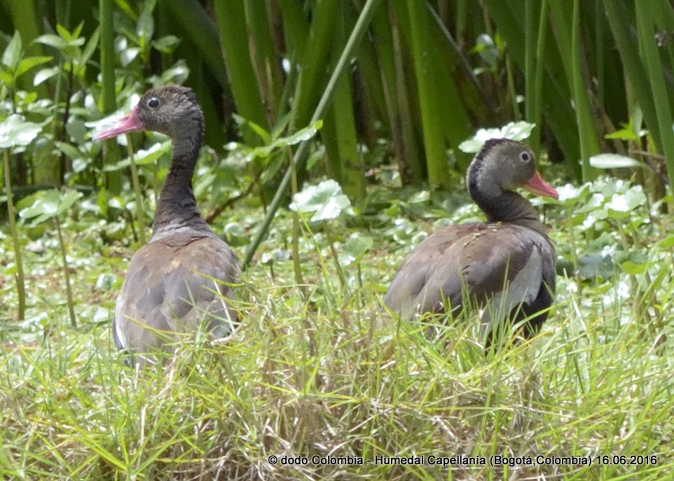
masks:
<path id="1" fill-rule="evenodd" d="M 450 225 L 424 239 L 394 274 L 384 304 L 407 321 L 480 307 L 486 348 L 508 326 L 528 340 L 555 298 L 556 252 L 536 210 L 516 190 L 559 195 L 540 176 L 531 149 L 510 139 L 483 144 L 466 185 L 487 221 Z"/>

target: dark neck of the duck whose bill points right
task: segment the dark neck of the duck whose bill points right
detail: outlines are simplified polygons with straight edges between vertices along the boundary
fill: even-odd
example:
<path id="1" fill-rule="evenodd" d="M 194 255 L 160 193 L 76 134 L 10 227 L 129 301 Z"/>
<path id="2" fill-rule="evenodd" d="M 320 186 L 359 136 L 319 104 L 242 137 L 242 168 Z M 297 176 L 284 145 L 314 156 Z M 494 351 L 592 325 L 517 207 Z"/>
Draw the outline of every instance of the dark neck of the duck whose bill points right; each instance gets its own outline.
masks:
<path id="1" fill-rule="evenodd" d="M 497 182 L 488 181 L 486 176 L 480 181 L 477 176 L 469 176 L 468 190 L 489 222 L 510 222 L 546 235 L 546 228 L 539 220 L 538 213 L 530 202 L 518 193 L 503 190 Z"/>

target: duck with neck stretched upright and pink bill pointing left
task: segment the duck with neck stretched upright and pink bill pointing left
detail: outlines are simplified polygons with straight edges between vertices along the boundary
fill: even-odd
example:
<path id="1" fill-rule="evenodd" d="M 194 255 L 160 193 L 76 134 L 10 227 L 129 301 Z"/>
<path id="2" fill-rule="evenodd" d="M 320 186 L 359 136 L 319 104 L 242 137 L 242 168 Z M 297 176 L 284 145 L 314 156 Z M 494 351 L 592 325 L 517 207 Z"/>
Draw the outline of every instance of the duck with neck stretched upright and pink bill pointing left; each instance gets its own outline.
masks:
<path id="1" fill-rule="evenodd" d="M 130 260 L 112 321 L 116 347 L 128 353 L 129 363 L 144 366 L 160 357 L 170 359 L 172 346 L 200 328 L 213 339 L 233 333 L 240 267 L 230 246 L 201 216 L 194 197 L 204 116 L 193 90 L 181 85 L 148 90 L 128 116 L 95 139 L 140 130 L 160 132 L 172 141 L 152 236 Z"/>

